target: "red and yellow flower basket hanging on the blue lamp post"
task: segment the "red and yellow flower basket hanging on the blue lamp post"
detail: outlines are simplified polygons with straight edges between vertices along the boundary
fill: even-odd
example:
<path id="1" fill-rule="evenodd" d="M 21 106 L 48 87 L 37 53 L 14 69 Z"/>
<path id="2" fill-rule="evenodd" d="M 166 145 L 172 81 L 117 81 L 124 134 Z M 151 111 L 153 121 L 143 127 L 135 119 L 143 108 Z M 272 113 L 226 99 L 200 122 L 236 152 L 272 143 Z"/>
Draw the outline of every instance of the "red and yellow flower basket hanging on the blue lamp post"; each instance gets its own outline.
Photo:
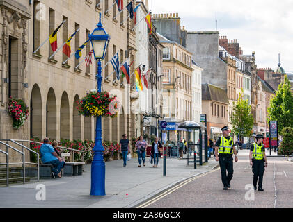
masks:
<path id="1" fill-rule="evenodd" d="M 97 92 L 92 89 L 84 98 L 77 101 L 77 109 L 79 114 L 85 117 L 117 117 L 120 103 L 117 96 L 109 96 L 108 92 Z"/>

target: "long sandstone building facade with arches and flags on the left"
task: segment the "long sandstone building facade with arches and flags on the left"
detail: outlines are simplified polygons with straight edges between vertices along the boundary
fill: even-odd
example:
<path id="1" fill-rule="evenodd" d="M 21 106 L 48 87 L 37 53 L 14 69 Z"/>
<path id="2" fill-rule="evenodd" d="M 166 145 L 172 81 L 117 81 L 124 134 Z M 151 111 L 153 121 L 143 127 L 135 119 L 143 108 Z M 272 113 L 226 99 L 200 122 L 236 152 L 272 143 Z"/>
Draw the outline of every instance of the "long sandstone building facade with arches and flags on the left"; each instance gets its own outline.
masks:
<path id="1" fill-rule="evenodd" d="M 118 117 L 103 118 L 102 137 L 118 142 L 123 133 L 134 135 L 131 93 L 135 90 L 125 78 L 116 80 L 109 61 L 118 52 L 120 64 L 127 58 L 132 62 L 139 49 L 136 49 L 136 33 L 132 31 L 133 20 L 126 19 L 127 10 L 118 15 L 116 3 L 111 7 L 112 3 L 115 1 L 1 1 L 0 138 L 95 139 L 95 119 L 78 115 L 76 109 L 76 102 L 97 87 L 96 62 L 88 67 L 81 62 L 90 51 L 90 44 L 81 51 L 79 60 L 72 56 L 68 62 L 64 62 L 67 56 L 62 49 L 49 58 L 53 53 L 49 42 L 34 51 L 65 21 L 57 33 L 58 47 L 79 28 L 71 40 L 73 53 L 96 27 L 99 12 L 104 29 L 111 36 L 102 62 L 102 91 L 116 94 L 122 104 Z M 125 6 L 127 3 L 129 0 L 124 1 Z M 109 65 L 104 67 L 106 62 Z M 134 71 L 134 65 L 131 69 Z M 8 96 L 24 99 L 31 111 L 20 130 L 12 128 Z"/>

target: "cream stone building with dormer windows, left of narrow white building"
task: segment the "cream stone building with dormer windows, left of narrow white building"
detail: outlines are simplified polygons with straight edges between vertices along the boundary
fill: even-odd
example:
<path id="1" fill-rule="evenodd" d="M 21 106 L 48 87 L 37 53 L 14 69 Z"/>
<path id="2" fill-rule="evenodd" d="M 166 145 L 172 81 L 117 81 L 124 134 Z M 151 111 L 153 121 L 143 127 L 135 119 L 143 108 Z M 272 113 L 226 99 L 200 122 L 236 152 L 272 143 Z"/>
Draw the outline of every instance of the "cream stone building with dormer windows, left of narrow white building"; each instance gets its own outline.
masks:
<path id="1" fill-rule="evenodd" d="M 191 52 L 177 42 L 160 35 L 163 50 L 163 117 L 167 122 L 192 119 L 192 78 Z M 177 131 L 177 134 L 176 132 Z M 169 140 L 177 142 L 186 137 L 180 129 L 169 131 Z"/>

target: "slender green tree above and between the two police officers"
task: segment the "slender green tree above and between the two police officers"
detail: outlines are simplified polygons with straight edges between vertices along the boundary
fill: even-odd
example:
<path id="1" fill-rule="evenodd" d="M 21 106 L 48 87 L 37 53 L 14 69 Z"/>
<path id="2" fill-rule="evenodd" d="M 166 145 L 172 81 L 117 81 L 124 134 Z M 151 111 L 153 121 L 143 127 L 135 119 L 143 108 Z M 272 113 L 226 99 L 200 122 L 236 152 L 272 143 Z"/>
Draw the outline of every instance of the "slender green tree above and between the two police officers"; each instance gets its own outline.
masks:
<path id="1" fill-rule="evenodd" d="M 248 104 L 247 100 L 244 100 L 243 89 L 237 103 L 233 105 L 233 110 L 230 119 L 232 132 L 239 137 L 250 137 L 253 128 L 253 115 L 251 114 L 251 105 Z"/>

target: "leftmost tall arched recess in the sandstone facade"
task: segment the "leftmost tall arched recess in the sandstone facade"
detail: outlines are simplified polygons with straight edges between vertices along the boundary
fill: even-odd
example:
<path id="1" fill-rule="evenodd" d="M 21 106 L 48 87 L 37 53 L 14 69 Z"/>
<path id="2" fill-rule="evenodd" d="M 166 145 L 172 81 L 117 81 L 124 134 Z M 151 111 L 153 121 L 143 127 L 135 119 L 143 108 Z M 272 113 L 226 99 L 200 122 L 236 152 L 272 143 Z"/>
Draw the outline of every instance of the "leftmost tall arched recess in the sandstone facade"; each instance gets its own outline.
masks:
<path id="1" fill-rule="evenodd" d="M 31 137 L 42 139 L 42 96 L 38 84 L 33 85 L 31 90 Z"/>

